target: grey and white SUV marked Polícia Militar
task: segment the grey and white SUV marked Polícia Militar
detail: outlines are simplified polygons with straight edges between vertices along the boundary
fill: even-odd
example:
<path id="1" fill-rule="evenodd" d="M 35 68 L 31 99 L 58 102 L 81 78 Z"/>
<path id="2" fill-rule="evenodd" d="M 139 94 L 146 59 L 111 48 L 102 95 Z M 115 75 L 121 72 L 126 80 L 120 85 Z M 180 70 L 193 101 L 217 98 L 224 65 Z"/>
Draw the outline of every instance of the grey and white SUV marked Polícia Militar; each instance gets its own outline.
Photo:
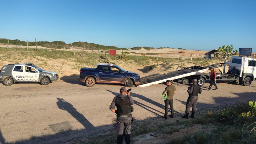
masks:
<path id="1" fill-rule="evenodd" d="M 5 86 L 10 86 L 17 82 L 40 82 L 48 85 L 59 78 L 56 72 L 44 71 L 32 63 L 8 64 L 0 71 L 0 81 Z"/>

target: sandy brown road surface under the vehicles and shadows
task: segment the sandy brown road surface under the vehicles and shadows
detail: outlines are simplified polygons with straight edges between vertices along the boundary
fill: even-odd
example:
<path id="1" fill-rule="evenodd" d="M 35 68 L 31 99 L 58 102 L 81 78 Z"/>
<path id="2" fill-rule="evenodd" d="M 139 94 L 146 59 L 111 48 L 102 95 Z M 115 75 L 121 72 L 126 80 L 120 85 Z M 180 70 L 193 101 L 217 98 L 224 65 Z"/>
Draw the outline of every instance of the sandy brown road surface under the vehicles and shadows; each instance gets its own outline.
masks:
<path id="1" fill-rule="evenodd" d="M 222 108 L 240 101 L 256 100 L 256 81 L 250 86 L 220 83 L 218 90 L 203 90 L 198 110 Z M 209 83 L 202 88 L 206 89 Z M 64 143 L 113 131 L 115 114 L 109 110 L 122 85 L 87 87 L 73 79 L 47 86 L 38 83 L 0 84 L 0 143 Z M 166 86 L 132 87 L 136 120 L 162 120 Z M 184 114 L 188 85 L 176 85 L 175 117 Z M 205 87 L 205 88 L 204 88 Z"/>

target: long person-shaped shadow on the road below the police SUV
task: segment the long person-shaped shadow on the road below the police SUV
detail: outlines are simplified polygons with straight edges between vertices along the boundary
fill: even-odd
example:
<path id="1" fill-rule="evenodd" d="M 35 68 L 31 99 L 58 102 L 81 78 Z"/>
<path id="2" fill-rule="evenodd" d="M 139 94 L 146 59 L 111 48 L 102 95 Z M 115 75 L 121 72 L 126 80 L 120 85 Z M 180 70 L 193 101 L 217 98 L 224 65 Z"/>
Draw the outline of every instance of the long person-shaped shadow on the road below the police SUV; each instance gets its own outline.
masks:
<path id="1" fill-rule="evenodd" d="M 59 109 L 66 110 L 71 116 L 73 116 L 77 121 L 80 122 L 86 129 L 95 128 L 82 114 L 80 114 L 76 108 L 70 103 L 65 101 L 63 98 L 57 98 L 57 105 Z"/>

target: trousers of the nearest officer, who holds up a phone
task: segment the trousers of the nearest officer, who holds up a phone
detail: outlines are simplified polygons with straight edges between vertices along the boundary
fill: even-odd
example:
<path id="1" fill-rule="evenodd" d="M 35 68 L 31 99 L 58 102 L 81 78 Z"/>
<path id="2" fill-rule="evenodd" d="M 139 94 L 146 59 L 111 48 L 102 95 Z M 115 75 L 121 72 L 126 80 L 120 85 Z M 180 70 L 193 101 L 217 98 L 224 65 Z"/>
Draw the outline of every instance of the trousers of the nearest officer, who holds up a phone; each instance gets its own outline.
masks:
<path id="1" fill-rule="evenodd" d="M 122 143 L 123 139 L 125 143 L 131 142 L 131 117 L 117 117 L 117 139 L 116 143 Z"/>

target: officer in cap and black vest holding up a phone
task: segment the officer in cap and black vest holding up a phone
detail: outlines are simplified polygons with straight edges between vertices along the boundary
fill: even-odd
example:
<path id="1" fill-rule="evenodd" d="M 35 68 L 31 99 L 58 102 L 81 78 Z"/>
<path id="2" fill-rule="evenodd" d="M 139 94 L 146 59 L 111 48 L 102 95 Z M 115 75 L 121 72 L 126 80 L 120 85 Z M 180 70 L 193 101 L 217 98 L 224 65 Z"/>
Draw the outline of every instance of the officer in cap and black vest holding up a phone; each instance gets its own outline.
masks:
<path id="1" fill-rule="evenodd" d="M 131 142 L 131 120 L 133 111 L 131 105 L 133 104 L 134 100 L 130 96 L 130 92 L 127 93 L 126 88 L 121 87 L 120 95 L 114 97 L 111 105 L 109 106 L 109 109 L 117 115 L 117 144 L 121 144 L 123 142 L 123 137 L 126 144 Z"/>

